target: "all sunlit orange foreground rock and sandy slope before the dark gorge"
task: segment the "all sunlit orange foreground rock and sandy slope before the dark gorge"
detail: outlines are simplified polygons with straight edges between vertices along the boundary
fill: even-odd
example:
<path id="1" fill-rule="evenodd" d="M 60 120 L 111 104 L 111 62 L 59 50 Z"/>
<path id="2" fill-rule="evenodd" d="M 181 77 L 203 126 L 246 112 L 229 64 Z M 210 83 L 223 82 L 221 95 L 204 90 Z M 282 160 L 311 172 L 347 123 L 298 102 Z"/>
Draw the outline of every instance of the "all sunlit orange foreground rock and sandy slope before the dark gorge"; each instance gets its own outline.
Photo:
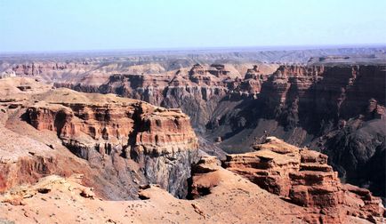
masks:
<path id="1" fill-rule="evenodd" d="M 181 109 L 11 80 L 0 80 L 0 220 L 360 223 L 384 215 L 378 197 L 341 184 L 316 151 L 268 138 L 255 152 L 228 155 L 224 169 L 216 157 L 199 159 Z M 367 111 L 381 110 L 371 100 Z M 144 201 L 106 201 L 133 198 Z"/>

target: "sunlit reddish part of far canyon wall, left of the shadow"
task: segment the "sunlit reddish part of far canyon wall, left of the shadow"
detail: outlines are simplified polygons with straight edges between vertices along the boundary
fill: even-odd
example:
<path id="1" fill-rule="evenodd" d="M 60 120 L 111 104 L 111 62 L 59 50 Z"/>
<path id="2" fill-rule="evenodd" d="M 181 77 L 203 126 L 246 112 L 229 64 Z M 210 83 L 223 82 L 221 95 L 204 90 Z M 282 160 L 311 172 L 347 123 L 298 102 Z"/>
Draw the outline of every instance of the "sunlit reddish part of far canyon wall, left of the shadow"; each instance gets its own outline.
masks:
<path id="1" fill-rule="evenodd" d="M 232 95 L 232 92 L 240 95 L 257 94 L 261 84 L 267 80 L 267 74 L 277 68 L 266 64 L 254 65 L 251 69 L 244 68 L 245 66 L 195 64 L 191 68 L 163 73 L 117 73 L 110 75 L 100 85 L 89 84 L 87 79 L 77 83 L 58 82 L 55 85 L 80 92 L 116 93 L 165 108 L 181 108 L 191 117 L 193 127 L 203 133 L 221 100 Z M 245 80 L 241 71 L 247 72 Z"/>

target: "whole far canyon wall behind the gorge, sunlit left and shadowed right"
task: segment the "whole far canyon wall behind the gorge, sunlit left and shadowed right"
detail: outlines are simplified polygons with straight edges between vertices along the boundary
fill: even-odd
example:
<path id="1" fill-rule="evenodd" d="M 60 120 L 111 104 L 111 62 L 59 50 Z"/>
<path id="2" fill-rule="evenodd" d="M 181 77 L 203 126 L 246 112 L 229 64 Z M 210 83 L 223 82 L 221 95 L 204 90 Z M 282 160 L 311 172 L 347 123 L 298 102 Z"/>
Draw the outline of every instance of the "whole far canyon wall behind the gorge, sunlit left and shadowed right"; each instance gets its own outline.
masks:
<path id="1" fill-rule="evenodd" d="M 261 65 L 251 67 L 244 77 L 229 64 L 196 64 L 68 87 L 181 108 L 200 137 L 216 140 L 215 147 L 229 153 L 251 150 L 256 139 L 268 135 L 310 146 L 326 153 L 329 164 L 350 183 L 384 195 L 384 175 L 368 175 L 384 167 L 377 159 L 384 154 L 386 138 L 384 64 L 281 66 L 272 75 Z"/>

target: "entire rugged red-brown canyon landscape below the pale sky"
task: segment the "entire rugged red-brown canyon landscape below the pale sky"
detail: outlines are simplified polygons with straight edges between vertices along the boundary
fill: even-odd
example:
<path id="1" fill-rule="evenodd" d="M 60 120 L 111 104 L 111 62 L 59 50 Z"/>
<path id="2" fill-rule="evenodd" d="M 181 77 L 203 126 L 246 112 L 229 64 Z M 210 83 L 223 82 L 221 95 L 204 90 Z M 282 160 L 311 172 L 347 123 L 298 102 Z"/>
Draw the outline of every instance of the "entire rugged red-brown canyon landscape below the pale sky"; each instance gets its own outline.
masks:
<path id="1" fill-rule="evenodd" d="M 382 223 L 386 48 L 0 57 L 0 223 Z"/>

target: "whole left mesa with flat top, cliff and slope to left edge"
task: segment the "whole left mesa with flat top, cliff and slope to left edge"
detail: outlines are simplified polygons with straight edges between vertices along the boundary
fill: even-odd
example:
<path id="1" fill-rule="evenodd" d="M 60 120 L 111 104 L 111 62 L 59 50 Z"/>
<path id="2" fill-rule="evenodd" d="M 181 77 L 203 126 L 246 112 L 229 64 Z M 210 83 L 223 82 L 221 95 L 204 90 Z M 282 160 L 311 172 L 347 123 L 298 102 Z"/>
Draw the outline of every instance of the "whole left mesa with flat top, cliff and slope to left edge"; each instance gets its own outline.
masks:
<path id="1" fill-rule="evenodd" d="M 68 89 L 1 99 L 19 95 L 15 108 L 2 100 L 1 140 L 9 139 L 2 146 L 2 191 L 49 174 L 84 173 L 84 184 L 105 198 L 135 198 L 146 183 L 186 196 L 197 138 L 180 109 Z"/>

